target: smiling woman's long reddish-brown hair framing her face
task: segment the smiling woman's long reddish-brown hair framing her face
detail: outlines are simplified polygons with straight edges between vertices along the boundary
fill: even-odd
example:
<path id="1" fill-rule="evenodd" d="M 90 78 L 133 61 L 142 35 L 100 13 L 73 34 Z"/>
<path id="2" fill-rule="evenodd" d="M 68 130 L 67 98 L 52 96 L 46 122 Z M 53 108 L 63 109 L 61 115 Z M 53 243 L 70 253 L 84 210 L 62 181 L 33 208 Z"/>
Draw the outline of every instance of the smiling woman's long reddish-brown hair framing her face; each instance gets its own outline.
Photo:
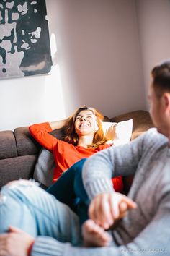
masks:
<path id="1" fill-rule="evenodd" d="M 62 129 L 63 130 L 63 138 L 62 139 L 70 144 L 75 145 L 75 146 L 78 144 L 79 137 L 76 134 L 74 124 L 76 121 L 76 116 L 78 116 L 78 114 L 84 110 L 89 110 L 94 114 L 94 116 L 96 116 L 97 125 L 98 125 L 99 129 L 94 134 L 93 144 L 89 145 L 88 148 L 97 148 L 97 147 L 99 147 L 99 145 L 104 144 L 107 141 L 107 139 L 106 139 L 103 129 L 102 129 L 102 121 L 104 119 L 104 116 L 96 108 L 88 108 L 87 106 L 81 106 L 80 108 L 78 108 L 75 111 L 75 113 L 73 113 L 73 115 L 69 116 L 69 119 L 68 119 L 66 125 Z"/>

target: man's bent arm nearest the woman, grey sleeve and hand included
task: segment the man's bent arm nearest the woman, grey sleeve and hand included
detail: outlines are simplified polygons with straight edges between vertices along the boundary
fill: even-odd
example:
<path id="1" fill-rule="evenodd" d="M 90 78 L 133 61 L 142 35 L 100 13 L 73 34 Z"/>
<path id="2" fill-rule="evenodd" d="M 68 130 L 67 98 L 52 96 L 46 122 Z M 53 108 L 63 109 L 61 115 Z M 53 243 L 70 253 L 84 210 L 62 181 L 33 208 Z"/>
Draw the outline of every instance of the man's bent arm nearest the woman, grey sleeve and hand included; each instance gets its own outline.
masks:
<path id="1" fill-rule="evenodd" d="M 143 161 L 143 155 L 147 155 L 148 148 L 151 148 L 148 138 L 152 140 L 155 136 L 151 136 L 151 133 L 148 132 L 126 145 L 103 150 L 84 163 L 82 178 L 91 200 L 89 218 L 104 229 L 108 229 L 116 220 L 122 218 L 122 204 L 125 205 L 123 212 L 137 207 L 130 198 L 114 192 L 110 178 L 135 174 L 140 160 Z"/>

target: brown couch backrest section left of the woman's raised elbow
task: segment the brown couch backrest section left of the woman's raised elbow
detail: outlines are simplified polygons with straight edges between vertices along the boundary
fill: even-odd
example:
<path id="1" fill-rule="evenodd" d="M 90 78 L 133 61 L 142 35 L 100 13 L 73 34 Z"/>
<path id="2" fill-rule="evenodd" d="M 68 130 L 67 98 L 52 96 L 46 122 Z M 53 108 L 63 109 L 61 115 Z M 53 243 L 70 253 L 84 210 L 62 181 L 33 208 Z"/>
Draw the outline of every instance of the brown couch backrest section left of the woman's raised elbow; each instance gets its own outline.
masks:
<path id="1" fill-rule="evenodd" d="M 40 148 L 28 127 L 0 132 L 0 187 L 14 179 L 32 178 Z"/>

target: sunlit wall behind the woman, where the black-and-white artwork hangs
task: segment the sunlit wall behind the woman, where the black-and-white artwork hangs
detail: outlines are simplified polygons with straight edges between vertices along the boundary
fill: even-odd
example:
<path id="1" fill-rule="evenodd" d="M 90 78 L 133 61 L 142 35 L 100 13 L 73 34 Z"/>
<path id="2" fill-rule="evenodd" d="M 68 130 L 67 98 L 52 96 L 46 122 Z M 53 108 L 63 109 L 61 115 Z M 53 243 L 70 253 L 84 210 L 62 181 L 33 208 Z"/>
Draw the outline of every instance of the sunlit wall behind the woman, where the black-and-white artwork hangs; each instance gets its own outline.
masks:
<path id="1" fill-rule="evenodd" d="M 86 104 L 146 108 L 135 0 L 46 0 L 49 75 L 0 81 L 0 130 L 63 119 Z"/>

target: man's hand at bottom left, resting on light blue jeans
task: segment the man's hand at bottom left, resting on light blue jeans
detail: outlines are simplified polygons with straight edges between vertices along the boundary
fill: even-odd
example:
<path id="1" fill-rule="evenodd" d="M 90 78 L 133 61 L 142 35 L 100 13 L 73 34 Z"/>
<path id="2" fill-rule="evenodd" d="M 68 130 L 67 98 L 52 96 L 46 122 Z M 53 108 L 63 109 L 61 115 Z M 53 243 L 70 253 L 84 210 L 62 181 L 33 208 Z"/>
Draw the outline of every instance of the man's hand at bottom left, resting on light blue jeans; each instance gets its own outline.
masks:
<path id="1" fill-rule="evenodd" d="M 9 233 L 0 234 L 0 256 L 27 256 L 35 239 L 21 229 L 9 227 Z"/>

